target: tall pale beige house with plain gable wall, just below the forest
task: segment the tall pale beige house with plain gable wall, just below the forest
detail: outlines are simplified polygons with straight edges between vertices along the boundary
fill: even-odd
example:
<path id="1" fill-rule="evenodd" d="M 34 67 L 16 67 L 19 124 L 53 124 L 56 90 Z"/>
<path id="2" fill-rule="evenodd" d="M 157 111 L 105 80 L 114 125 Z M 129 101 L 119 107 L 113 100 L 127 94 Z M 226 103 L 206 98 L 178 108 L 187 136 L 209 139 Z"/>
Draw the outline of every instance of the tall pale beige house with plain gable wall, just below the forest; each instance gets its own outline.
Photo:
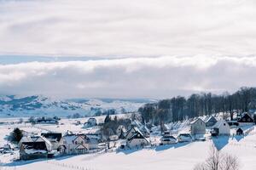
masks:
<path id="1" fill-rule="evenodd" d="M 206 122 L 203 122 L 201 118 L 197 118 L 195 121 L 190 122 L 190 133 L 191 135 L 205 134 Z"/>

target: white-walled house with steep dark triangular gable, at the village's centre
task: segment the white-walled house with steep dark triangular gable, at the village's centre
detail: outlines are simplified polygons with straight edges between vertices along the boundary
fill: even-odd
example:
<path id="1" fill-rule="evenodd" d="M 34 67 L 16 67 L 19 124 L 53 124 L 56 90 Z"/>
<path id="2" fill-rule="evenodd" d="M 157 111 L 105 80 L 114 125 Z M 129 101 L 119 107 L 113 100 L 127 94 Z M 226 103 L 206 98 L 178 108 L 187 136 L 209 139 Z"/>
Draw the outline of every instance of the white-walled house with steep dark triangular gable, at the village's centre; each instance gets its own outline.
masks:
<path id="1" fill-rule="evenodd" d="M 149 144 L 148 139 L 146 139 L 143 136 L 143 133 L 141 133 L 139 130 L 132 133 L 131 136 L 129 135 L 129 137 L 126 140 L 126 145 L 129 148 L 143 147 L 148 144 Z"/>

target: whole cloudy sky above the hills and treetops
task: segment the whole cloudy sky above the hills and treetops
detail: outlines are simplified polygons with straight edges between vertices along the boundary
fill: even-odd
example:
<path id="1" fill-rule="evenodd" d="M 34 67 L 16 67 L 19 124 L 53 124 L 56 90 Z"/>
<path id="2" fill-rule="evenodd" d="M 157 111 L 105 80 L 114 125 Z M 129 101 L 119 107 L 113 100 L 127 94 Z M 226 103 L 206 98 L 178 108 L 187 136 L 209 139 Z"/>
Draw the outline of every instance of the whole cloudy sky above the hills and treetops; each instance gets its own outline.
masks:
<path id="1" fill-rule="evenodd" d="M 0 94 L 169 98 L 256 80 L 254 0 L 0 0 Z"/>

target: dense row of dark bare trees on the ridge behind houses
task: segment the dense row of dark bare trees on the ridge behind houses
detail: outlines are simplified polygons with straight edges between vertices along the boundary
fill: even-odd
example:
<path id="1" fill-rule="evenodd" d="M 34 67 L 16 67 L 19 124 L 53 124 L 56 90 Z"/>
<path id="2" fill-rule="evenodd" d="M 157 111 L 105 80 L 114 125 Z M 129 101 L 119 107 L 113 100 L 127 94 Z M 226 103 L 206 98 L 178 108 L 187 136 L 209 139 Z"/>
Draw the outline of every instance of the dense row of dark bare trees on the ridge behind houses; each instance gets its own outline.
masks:
<path id="1" fill-rule="evenodd" d="M 242 113 L 254 109 L 256 109 L 256 88 L 243 87 L 233 94 L 201 93 L 191 94 L 189 98 L 177 96 L 172 99 L 162 99 L 156 103 L 143 105 L 138 112 L 144 123 L 159 125 L 219 112 L 223 112 L 233 120 L 235 111 Z"/>

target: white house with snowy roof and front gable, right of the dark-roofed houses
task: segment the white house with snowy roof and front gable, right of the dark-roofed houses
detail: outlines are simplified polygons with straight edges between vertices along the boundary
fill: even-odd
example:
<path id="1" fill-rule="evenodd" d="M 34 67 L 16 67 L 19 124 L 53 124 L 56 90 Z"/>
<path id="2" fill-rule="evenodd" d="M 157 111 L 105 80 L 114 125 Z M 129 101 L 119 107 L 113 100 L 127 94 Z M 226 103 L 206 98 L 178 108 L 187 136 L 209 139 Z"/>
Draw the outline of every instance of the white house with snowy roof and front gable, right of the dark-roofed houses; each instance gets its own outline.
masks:
<path id="1" fill-rule="evenodd" d="M 84 154 L 89 150 L 84 134 L 67 134 L 63 137 L 63 145 L 67 154 Z"/>

